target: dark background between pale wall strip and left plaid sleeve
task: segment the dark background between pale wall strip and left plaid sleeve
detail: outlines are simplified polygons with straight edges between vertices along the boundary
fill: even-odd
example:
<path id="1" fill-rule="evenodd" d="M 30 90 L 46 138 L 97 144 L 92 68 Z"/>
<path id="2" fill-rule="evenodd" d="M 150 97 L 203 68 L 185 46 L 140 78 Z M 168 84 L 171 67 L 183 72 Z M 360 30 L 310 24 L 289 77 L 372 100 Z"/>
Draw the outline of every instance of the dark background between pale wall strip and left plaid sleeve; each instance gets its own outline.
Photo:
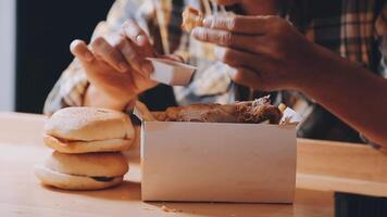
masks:
<path id="1" fill-rule="evenodd" d="M 41 113 L 59 76 L 72 61 L 73 39 L 89 40 L 114 0 L 17 0 L 16 111 Z"/>

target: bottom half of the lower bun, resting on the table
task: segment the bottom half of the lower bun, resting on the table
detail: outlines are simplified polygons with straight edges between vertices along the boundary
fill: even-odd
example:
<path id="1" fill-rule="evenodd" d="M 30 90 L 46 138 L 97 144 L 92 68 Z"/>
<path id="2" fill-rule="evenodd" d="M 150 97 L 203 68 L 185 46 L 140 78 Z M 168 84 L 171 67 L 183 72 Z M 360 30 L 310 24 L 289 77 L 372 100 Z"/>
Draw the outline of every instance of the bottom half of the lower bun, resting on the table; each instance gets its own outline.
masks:
<path id="1" fill-rule="evenodd" d="M 35 175 L 43 184 L 65 190 L 100 190 L 123 182 L 123 176 L 112 177 L 110 180 L 98 181 L 91 177 L 61 174 L 42 165 L 35 166 Z"/>

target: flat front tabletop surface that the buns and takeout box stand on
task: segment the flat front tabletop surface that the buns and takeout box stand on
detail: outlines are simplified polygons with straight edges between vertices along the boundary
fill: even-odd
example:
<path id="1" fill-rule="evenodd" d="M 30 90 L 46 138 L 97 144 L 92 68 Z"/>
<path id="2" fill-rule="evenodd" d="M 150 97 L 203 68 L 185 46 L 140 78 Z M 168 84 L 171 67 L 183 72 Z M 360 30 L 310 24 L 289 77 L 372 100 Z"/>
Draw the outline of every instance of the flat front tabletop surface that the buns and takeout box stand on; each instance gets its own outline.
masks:
<path id="1" fill-rule="evenodd" d="M 333 193 L 297 190 L 294 205 L 143 203 L 137 162 L 125 182 L 102 191 L 63 191 L 39 183 L 33 165 L 50 150 L 41 143 L 0 143 L 0 216 L 333 216 Z M 162 206 L 178 213 L 166 213 Z"/>

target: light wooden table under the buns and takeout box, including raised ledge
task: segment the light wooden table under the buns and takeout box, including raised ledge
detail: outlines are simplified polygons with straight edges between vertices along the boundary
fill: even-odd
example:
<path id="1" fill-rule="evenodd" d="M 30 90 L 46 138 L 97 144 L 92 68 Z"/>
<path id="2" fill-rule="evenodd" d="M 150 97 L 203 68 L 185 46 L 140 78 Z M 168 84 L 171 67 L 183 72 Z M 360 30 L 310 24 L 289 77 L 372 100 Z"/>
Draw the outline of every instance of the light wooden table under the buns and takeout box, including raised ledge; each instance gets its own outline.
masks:
<path id="1" fill-rule="evenodd" d="M 51 150 L 41 144 L 45 117 L 0 113 L 0 216 L 334 216 L 333 191 L 387 195 L 387 157 L 366 146 L 298 141 L 294 205 L 143 203 L 136 154 L 125 182 L 103 191 L 62 191 L 39 184 L 33 165 Z M 132 150 L 135 152 L 136 146 Z M 339 164 L 339 166 L 335 165 Z M 348 165 L 351 169 L 348 171 Z M 361 165 L 361 166 L 360 166 Z M 358 167 L 359 166 L 359 169 Z M 358 169 L 358 170 L 357 170 Z M 349 184 L 348 184 L 349 183 Z M 175 212 L 165 212 L 165 206 Z"/>

